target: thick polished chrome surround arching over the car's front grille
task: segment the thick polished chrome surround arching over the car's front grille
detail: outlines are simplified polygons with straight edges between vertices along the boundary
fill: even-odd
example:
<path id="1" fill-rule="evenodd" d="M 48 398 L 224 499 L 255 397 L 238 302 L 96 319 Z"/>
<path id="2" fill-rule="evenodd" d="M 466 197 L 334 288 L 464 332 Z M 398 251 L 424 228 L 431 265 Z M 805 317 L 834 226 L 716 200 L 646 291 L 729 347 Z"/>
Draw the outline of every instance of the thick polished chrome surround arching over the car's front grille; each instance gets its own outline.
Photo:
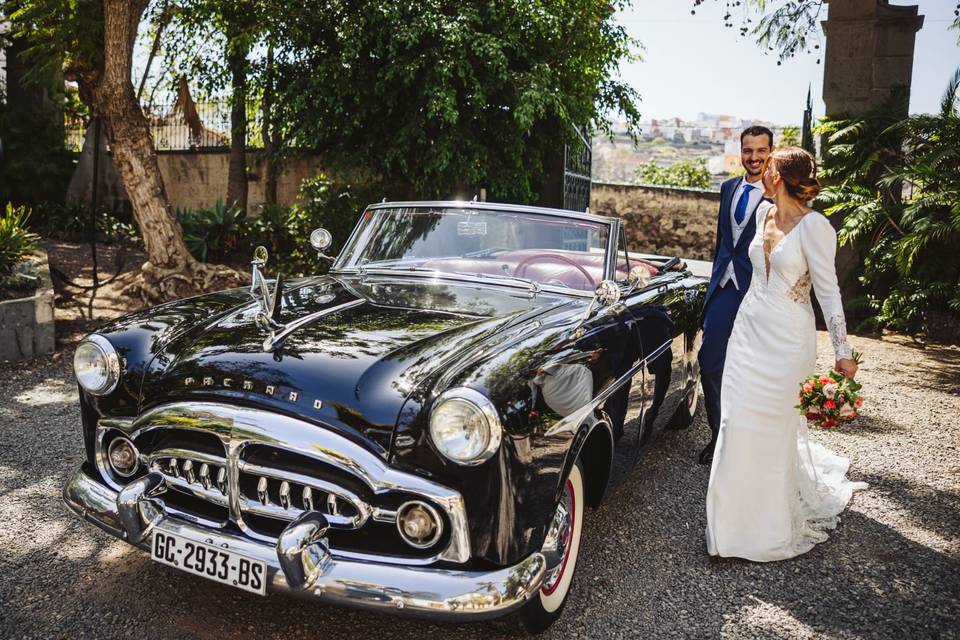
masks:
<path id="1" fill-rule="evenodd" d="M 102 449 L 102 432 L 107 428 L 117 429 L 134 441 L 150 430 L 163 428 L 202 431 L 216 435 L 226 450 L 230 516 L 251 538 L 268 539 L 252 531 L 243 521 L 243 512 L 247 505 L 242 503 L 239 491 L 241 455 L 244 447 L 248 445 L 266 445 L 338 467 L 366 484 L 374 495 L 400 491 L 430 501 L 446 513 L 450 525 L 450 541 L 445 549 L 427 559 L 427 562 L 447 560 L 462 563 L 470 559 L 466 503 L 459 492 L 420 476 L 393 469 L 373 452 L 316 424 L 262 409 L 214 402 L 176 402 L 155 407 L 133 421 L 115 420 L 109 424 L 108 421 L 102 421 L 98 427 L 98 451 Z M 98 467 L 99 464 L 98 456 Z M 107 476 L 105 478 L 108 479 Z M 122 488 L 114 486 L 115 483 L 109 479 L 108 484 L 116 490 Z M 341 491 L 343 490 L 338 493 Z M 367 513 L 369 517 L 369 511 Z M 332 550 L 332 553 L 340 554 L 339 550 Z M 392 556 L 371 554 L 370 557 L 379 562 L 408 562 L 407 558 Z M 409 562 L 417 564 L 423 560 L 409 559 Z"/>

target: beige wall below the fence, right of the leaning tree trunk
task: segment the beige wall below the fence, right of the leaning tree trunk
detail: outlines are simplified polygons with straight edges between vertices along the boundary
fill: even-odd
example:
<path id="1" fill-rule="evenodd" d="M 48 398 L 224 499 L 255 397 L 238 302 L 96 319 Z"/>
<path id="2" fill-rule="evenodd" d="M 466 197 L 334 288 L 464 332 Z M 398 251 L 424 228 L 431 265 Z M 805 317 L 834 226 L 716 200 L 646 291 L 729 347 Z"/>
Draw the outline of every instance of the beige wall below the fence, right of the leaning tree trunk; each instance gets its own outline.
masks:
<path id="1" fill-rule="evenodd" d="M 259 153 L 247 154 L 249 167 L 249 191 L 247 208 L 256 212 L 265 201 L 266 170 L 259 164 Z M 217 198 L 227 193 L 227 170 L 230 165 L 229 151 L 193 152 L 165 151 L 157 154 L 167 197 L 174 207 L 199 209 L 210 207 Z M 283 167 L 277 177 L 277 202 L 293 204 L 304 178 L 312 178 L 320 172 L 316 158 L 293 158 Z"/>

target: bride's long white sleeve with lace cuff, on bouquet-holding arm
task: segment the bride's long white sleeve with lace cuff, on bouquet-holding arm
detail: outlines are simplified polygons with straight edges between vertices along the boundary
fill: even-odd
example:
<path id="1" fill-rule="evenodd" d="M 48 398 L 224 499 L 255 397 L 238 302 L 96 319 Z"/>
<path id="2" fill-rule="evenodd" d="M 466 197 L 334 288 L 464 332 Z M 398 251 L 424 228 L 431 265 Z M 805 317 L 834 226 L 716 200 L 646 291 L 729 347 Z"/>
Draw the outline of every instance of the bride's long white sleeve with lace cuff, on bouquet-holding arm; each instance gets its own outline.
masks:
<path id="1" fill-rule="evenodd" d="M 804 220 L 806 226 L 802 229 L 802 244 L 813 289 L 823 311 L 837 360 L 851 358 L 853 349 L 847 341 L 847 322 L 843 315 L 840 286 L 837 284 L 837 232 L 820 213 L 808 213 L 807 218 L 811 219 Z"/>

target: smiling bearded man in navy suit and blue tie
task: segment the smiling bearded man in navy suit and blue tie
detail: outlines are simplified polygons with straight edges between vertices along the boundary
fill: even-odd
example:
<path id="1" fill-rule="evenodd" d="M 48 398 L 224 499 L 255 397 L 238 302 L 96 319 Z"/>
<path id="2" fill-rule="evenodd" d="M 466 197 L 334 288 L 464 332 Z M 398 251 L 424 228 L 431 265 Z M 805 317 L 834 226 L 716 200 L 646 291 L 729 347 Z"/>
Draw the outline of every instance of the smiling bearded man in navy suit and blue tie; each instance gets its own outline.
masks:
<path id="1" fill-rule="evenodd" d="M 766 127 L 749 127 L 740 134 L 740 164 L 746 173 L 720 187 L 720 217 L 717 220 L 717 247 L 713 273 L 704 303 L 703 344 L 700 346 L 700 382 L 710 423 L 710 442 L 700 452 L 700 464 L 713 461 L 713 449 L 720 433 L 720 383 L 727 341 L 740 301 L 750 286 L 753 267 L 747 251 L 756 232 L 754 212 L 763 200 L 760 170 L 773 150 L 773 132 Z M 748 384 L 748 380 L 741 381 Z"/>

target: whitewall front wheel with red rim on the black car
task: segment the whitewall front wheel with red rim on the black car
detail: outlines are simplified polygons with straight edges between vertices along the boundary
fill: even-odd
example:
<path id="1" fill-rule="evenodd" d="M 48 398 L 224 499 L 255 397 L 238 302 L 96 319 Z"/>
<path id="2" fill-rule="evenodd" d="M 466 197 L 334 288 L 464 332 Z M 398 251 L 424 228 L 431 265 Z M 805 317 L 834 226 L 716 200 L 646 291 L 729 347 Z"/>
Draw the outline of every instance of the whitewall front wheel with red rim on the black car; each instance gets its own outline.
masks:
<path id="1" fill-rule="evenodd" d="M 580 460 L 570 469 L 563 495 L 547 529 L 544 555 L 553 559 L 536 595 L 520 609 L 520 621 L 530 634 L 542 633 L 553 624 L 570 593 L 573 574 L 580 555 L 583 534 L 584 474 Z"/>

